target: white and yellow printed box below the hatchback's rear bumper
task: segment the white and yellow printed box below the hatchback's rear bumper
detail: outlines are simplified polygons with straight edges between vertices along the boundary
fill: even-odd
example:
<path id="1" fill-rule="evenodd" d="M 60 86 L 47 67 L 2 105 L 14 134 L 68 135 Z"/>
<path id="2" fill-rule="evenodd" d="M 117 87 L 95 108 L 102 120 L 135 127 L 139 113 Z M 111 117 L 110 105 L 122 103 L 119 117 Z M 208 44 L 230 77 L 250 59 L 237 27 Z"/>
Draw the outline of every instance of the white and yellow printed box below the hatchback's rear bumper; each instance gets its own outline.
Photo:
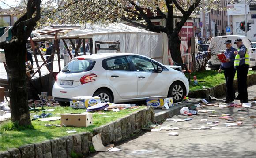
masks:
<path id="1" fill-rule="evenodd" d="M 76 96 L 69 99 L 70 107 L 77 109 L 86 109 L 98 103 L 101 103 L 101 98 L 98 96 Z"/>

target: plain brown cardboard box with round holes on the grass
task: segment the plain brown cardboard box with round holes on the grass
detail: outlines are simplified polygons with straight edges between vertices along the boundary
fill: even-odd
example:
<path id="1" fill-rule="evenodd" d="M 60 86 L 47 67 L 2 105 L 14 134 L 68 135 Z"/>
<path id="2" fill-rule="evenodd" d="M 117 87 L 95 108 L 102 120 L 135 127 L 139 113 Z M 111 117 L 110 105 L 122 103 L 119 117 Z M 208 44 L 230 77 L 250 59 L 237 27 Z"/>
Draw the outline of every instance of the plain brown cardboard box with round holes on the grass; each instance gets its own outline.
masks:
<path id="1" fill-rule="evenodd" d="M 75 126 L 75 127 L 88 127 L 92 125 L 92 114 L 61 114 L 61 125 Z"/>

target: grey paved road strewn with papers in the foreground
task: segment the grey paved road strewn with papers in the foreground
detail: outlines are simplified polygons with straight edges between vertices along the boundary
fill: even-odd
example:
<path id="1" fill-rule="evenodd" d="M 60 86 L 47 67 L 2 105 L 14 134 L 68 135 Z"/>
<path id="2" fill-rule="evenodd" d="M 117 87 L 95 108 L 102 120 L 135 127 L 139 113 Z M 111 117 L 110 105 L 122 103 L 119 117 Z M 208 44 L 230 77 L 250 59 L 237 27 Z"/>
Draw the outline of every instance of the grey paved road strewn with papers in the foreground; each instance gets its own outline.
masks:
<path id="1" fill-rule="evenodd" d="M 249 99 L 256 97 L 256 85 L 248 88 Z M 214 102 L 216 103 L 216 102 Z M 232 117 L 245 117 L 243 125 L 226 127 L 226 120 L 210 118 L 211 112 L 192 116 L 193 120 L 186 122 L 165 121 L 162 126 L 179 127 L 175 131 L 146 132 L 136 139 L 117 145 L 122 151 L 99 152 L 90 154 L 91 158 L 255 158 L 256 128 L 252 124 L 256 119 L 256 109 L 238 111 L 238 108 L 206 107 L 203 110 L 215 110 L 214 114 L 231 114 Z M 176 115 L 173 118 L 188 118 Z M 208 126 L 208 121 L 221 121 L 216 129 L 200 129 Z M 190 130 L 188 130 L 190 129 Z M 168 136 L 169 132 L 179 132 L 179 136 Z"/>

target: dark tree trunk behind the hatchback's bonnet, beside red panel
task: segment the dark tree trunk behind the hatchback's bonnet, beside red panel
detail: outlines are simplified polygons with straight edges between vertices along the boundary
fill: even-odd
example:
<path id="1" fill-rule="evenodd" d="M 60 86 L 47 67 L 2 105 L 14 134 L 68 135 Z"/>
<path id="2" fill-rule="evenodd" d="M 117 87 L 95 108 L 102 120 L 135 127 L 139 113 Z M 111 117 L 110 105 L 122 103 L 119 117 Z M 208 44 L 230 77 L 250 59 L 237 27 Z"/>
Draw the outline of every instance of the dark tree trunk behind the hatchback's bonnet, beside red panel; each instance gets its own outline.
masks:
<path id="1" fill-rule="evenodd" d="M 181 37 L 179 35 L 175 36 L 168 36 L 169 39 L 169 49 L 171 52 L 172 60 L 176 63 L 182 64 L 182 57 L 181 57 Z"/>

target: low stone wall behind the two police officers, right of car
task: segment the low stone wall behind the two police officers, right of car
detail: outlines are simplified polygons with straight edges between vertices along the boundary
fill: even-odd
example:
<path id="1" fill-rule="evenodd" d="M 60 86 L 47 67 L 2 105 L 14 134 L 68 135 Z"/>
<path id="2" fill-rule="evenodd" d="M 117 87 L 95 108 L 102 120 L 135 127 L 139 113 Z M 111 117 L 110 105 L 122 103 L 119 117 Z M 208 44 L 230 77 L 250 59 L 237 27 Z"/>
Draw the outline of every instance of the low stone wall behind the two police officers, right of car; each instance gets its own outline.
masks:
<path id="1" fill-rule="evenodd" d="M 254 85 L 256 84 L 256 74 L 252 74 L 247 76 L 247 85 Z M 234 80 L 233 87 L 235 91 L 237 90 L 237 80 Z M 218 86 L 201 89 L 193 92 L 189 92 L 188 97 L 190 98 L 206 98 L 209 99 L 210 96 L 220 97 L 226 96 L 226 84 L 220 84 Z"/>

